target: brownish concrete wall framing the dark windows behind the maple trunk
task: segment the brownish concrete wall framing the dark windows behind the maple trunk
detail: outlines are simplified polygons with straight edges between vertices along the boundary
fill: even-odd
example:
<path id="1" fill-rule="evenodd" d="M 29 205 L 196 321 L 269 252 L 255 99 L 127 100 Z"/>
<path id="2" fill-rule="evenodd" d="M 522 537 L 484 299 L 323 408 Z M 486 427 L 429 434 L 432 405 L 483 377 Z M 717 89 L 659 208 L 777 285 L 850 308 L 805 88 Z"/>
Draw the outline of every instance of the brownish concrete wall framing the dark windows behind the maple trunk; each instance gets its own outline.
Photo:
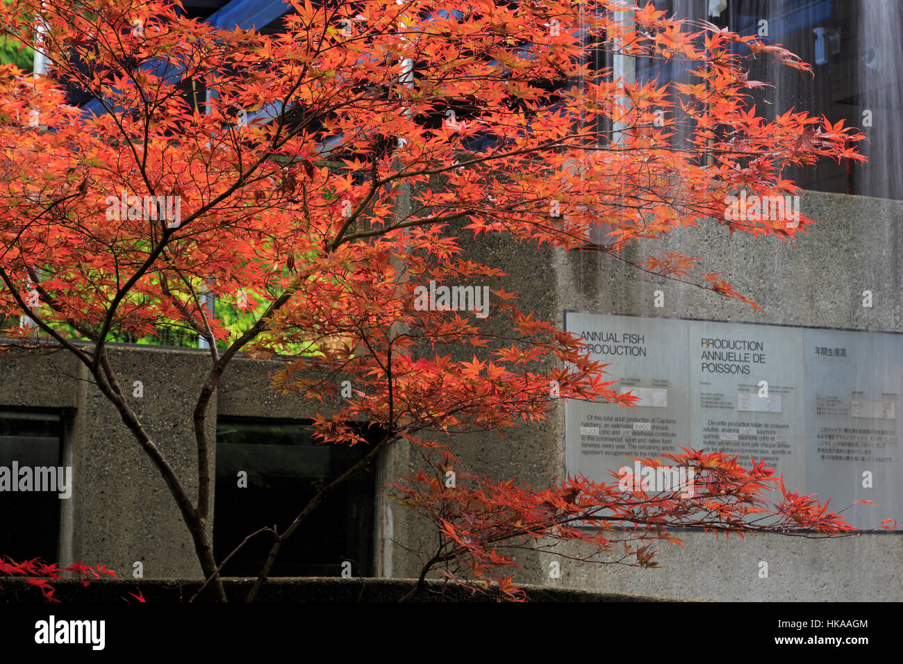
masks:
<path id="1" fill-rule="evenodd" d="M 209 354 L 113 345 L 109 355 L 130 406 L 196 500 L 191 413 L 210 368 Z M 303 398 L 267 388 L 270 373 L 280 366 L 277 361 L 243 358 L 230 364 L 210 402 L 209 441 L 216 439 L 217 416 L 311 415 Z M 70 499 L 60 501 L 62 566 L 80 559 L 131 576 L 140 562 L 145 578 L 200 575 L 191 536 L 163 476 L 88 377 L 88 369 L 68 351 L 0 356 L 0 409 L 63 410 L 66 415 L 63 456 L 72 466 L 73 490 Z M 216 468 L 213 447 L 211 471 Z M 211 528 L 212 499 L 211 492 Z"/>

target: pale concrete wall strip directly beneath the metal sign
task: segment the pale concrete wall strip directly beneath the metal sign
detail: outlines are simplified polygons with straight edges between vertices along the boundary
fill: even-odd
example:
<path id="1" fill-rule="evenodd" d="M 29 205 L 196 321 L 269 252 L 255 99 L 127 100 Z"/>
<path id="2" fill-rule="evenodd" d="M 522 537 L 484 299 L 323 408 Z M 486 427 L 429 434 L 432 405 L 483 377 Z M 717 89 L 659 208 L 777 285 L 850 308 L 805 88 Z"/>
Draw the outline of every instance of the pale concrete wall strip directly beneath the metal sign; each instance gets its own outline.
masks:
<path id="1" fill-rule="evenodd" d="M 638 569 L 563 561 L 562 577 L 550 585 L 568 585 L 619 593 L 650 593 L 727 602 L 898 602 L 903 544 L 892 533 L 851 538 L 803 539 L 755 535 L 745 539 L 675 531 L 684 549 L 663 545 L 662 566 Z M 577 547 L 568 547 L 571 551 Z M 547 556 L 551 560 L 551 557 Z M 768 577 L 759 572 L 768 565 Z M 533 567 L 534 583 L 547 573 Z"/>

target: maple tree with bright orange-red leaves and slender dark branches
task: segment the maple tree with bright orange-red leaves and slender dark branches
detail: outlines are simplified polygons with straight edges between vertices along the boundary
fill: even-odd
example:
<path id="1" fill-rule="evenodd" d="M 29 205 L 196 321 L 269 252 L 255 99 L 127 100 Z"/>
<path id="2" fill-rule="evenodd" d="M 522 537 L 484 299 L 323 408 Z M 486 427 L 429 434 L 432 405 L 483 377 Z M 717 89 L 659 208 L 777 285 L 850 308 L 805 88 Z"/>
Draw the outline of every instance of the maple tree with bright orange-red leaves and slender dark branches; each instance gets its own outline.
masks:
<path id="1" fill-rule="evenodd" d="M 353 421 L 383 432 L 288 528 L 265 529 L 273 548 L 250 598 L 321 500 L 401 441 L 423 451 L 424 466 L 396 496 L 436 525 L 421 579 L 436 567 L 455 580 L 495 578 L 515 599 L 506 572 L 518 547 L 578 539 L 598 552 L 623 547 L 645 566 L 651 542 L 675 541 L 673 525 L 850 529 L 780 482 L 780 504 L 763 504 L 772 472 L 723 454 L 670 457 L 696 470 L 692 499 L 463 472 L 443 436 L 502 433 L 542 420 L 561 398 L 629 407 L 636 397 L 612 389 L 580 341 L 522 311 L 513 293 L 491 292 L 489 320 L 420 299 L 431 282 L 503 276 L 464 255 L 462 233 L 502 234 L 525 252 L 573 250 L 604 223 L 604 250 L 617 258 L 628 243 L 705 223 L 755 237 L 805 232 L 812 220 L 725 213 L 740 190 L 795 194 L 785 167 L 861 160 L 861 136 L 842 123 L 802 112 L 766 121 L 750 104 L 763 84 L 748 79 L 746 59 L 808 71 L 804 62 L 757 37 L 609 0 L 292 5 L 272 35 L 213 28 L 178 3 L 21 0 L 2 10 L 3 32 L 37 41 L 51 62 L 45 76 L 0 71 L 0 313 L 33 326 L 5 334 L 61 347 L 88 368 L 163 475 L 220 599 L 205 423 L 239 352 L 283 359 L 275 387 L 329 407 L 315 418 L 323 441 L 360 443 Z M 613 79 L 588 64 L 599 49 L 678 63 L 694 82 Z M 93 98 L 98 115 L 68 106 L 64 85 Z M 638 267 L 755 306 L 681 253 Z M 205 293 L 241 312 L 240 328 L 210 316 Z M 193 469 L 154 444 L 108 359 L 118 335 L 162 324 L 209 347 Z M 345 380 L 353 393 L 342 399 Z M 577 528 L 588 522 L 598 528 Z"/>

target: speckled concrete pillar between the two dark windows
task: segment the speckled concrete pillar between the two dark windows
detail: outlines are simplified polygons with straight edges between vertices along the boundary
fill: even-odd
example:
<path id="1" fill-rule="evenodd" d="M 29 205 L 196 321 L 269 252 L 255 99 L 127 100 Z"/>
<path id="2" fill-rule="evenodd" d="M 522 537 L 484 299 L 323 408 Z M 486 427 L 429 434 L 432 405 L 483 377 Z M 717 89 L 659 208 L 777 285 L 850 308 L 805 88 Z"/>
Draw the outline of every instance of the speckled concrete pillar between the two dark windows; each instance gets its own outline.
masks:
<path id="1" fill-rule="evenodd" d="M 191 411 L 209 356 L 151 347 L 110 349 L 110 361 L 129 405 L 166 455 L 192 500 L 197 497 L 197 452 Z M 135 397 L 135 381 L 143 396 Z M 215 440 L 216 401 L 207 423 Z M 105 562 L 131 576 L 200 574 L 194 545 L 163 476 L 98 388 L 89 385 L 76 429 L 75 559 Z M 215 449 L 209 463 L 215 468 Z M 211 508 L 212 514 L 212 508 Z M 212 520 L 212 519 L 211 519 Z"/>

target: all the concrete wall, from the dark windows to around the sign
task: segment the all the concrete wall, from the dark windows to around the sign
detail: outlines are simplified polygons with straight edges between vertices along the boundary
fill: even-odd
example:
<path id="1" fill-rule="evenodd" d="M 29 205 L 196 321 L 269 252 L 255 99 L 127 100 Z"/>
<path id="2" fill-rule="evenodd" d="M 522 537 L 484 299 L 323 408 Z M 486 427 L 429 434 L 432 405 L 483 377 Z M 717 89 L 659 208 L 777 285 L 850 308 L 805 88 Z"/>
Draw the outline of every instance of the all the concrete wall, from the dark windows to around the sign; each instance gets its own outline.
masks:
<path id="1" fill-rule="evenodd" d="M 682 231 L 664 245 L 707 257 L 706 269 L 720 271 L 768 315 L 692 286 L 647 276 L 600 253 L 536 251 L 507 239 L 481 236 L 464 243 L 468 258 L 503 268 L 508 277 L 489 282 L 516 291 L 527 310 L 563 324 L 565 309 L 719 321 L 824 325 L 859 330 L 903 331 L 903 203 L 854 196 L 809 193 L 802 212 L 820 227 L 796 241 L 756 241 L 726 230 Z M 467 237 L 462 233 L 462 236 Z M 625 257 L 641 259 L 646 248 Z M 874 306 L 861 306 L 861 293 L 873 293 Z M 652 305 L 663 290 L 665 307 Z M 487 322 L 491 325 L 490 315 Z M 470 352 L 470 351 L 468 351 Z M 116 411 L 66 353 L 33 353 L 0 358 L 0 408 L 66 408 L 71 416 L 68 454 L 75 472 L 73 497 L 62 506 L 62 561 L 82 558 L 106 563 L 131 575 L 135 561 L 148 578 L 200 574 L 191 538 L 163 479 L 155 471 Z M 116 347 L 111 357 L 124 387 L 140 380 L 144 397 L 132 398 L 154 441 L 180 469 L 182 482 L 196 491 L 195 448 L 191 435 L 193 398 L 209 367 L 203 351 Z M 301 397 L 277 395 L 266 387 L 276 361 L 236 360 L 220 382 L 211 412 L 219 416 L 301 418 L 311 414 Z M 903 370 L 903 368 L 901 368 Z M 128 391 L 131 392 L 132 388 Z M 213 437 L 215 422 L 209 420 Z M 539 426 L 522 426 L 504 440 L 494 434 L 457 436 L 452 441 L 471 471 L 516 477 L 540 486 L 563 479 L 563 407 Z M 214 454 L 211 451 L 211 462 Z M 379 483 L 413 468 L 414 456 L 397 445 L 380 459 Z M 422 521 L 385 498 L 377 500 L 377 575 L 414 576 L 420 560 L 405 550 L 433 546 Z M 903 515 L 896 515 L 903 517 Z M 367 535 L 369 537 L 369 534 Z M 665 594 L 725 600 L 882 600 L 903 599 L 903 538 L 864 534 L 812 541 L 757 536 L 717 542 L 711 535 L 683 533 L 685 550 L 663 547 L 660 570 L 591 566 L 562 562 L 562 578 L 548 578 L 547 555 L 519 557 L 526 583 L 587 590 Z M 402 547 L 401 545 L 404 545 Z M 563 553 L 579 551 L 563 548 Z M 0 552 L 2 553 L 2 552 Z M 759 561 L 769 577 L 759 578 Z"/>

